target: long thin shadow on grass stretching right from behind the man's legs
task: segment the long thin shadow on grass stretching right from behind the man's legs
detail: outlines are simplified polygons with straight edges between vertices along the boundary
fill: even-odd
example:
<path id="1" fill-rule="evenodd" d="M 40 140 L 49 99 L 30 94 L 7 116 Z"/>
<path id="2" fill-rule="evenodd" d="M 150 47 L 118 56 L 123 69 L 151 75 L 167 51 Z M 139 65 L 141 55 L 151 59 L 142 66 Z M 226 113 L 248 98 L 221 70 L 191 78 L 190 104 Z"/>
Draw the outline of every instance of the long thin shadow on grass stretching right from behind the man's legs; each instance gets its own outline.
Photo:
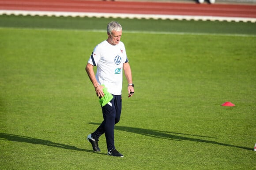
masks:
<path id="1" fill-rule="evenodd" d="M 99 123 L 89 123 L 92 125 L 99 125 Z M 135 128 L 135 127 L 128 127 L 128 126 L 115 126 L 115 129 L 122 130 L 130 133 L 138 133 L 141 135 L 145 135 L 148 137 L 156 137 L 156 138 L 162 138 L 162 139 L 168 139 L 168 140 L 188 140 L 193 142 L 203 142 L 208 144 L 218 144 L 222 146 L 228 146 L 228 147 L 235 147 L 235 148 L 241 148 L 246 150 L 253 150 L 252 148 L 247 148 L 243 146 L 236 146 L 232 144 L 223 144 L 220 142 L 212 141 L 212 140 L 204 140 L 204 139 L 198 139 L 196 137 L 206 137 L 206 138 L 213 138 L 213 137 L 207 137 L 207 136 L 198 136 L 198 135 L 191 135 L 191 134 L 185 134 L 185 133 L 175 133 L 175 132 L 166 132 L 166 131 L 158 131 L 158 130 L 150 130 L 150 129 L 142 129 L 142 128 Z M 184 137 L 184 135 L 192 136 L 192 137 Z M 195 137 L 195 138 L 193 138 Z"/>

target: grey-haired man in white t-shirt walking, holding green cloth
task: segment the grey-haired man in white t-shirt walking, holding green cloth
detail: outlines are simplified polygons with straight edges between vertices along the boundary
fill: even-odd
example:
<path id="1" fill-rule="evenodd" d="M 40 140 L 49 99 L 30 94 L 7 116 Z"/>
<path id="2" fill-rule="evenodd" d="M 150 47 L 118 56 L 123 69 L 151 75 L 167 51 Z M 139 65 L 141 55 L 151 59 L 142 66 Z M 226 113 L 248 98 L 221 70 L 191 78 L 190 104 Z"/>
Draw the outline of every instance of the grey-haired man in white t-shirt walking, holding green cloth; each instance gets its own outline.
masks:
<path id="1" fill-rule="evenodd" d="M 105 133 L 108 155 L 123 157 L 114 145 L 114 125 L 120 120 L 122 107 L 122 78 L 123 70 L 128 81 L 128 97 L 134 95 L 132 71 L 128 63 L 124 43 L 120 41 L 122 26 L 118 22 L 110 22 L 107 26 L 108 38 L 98 44 L 88 60 L 86 71 L 94 85 L 96 95 L 100 98 L 103 122 L 87 136 L 95 152 L 99 137 Z M 93 67 L 97 66 L 96 76 Z"/>

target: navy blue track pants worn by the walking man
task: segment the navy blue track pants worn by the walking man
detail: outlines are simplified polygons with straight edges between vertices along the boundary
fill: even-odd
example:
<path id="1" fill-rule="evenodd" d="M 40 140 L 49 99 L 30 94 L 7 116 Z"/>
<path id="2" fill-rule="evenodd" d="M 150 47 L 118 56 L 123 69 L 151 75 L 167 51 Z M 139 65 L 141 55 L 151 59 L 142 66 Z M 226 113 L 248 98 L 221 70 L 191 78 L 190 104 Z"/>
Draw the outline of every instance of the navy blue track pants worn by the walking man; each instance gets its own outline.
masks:
<path id="1" fill-rule="evenodd" d="M 112 106 L 111 106 L 112 105 Z M 98 138 L 105 133 L 106 143 L 108 151 L 115 149 L 114 141 L 114 126 L 120 120 L 122 110 L 122 97 L 121 95 L 113 95 L 113 99 L 110 103 L 102 107 L 103 122 L 102 124 L 92 133 L 92 138 L 98 140 Z"/>

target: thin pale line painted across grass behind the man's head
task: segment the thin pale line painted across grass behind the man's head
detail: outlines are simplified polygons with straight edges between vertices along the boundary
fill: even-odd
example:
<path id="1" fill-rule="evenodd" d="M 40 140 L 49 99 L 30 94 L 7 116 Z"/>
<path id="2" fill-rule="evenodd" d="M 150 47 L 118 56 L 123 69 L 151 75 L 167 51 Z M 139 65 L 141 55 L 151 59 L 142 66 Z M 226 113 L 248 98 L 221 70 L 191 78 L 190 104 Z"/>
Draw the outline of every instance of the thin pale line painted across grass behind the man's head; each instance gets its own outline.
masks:
<path id="1" fill-rule="evenodd" d="M 59 28 L 25 28 L 25 27 L 1 27 L 0 30 L 44 30 L 44 31 L 75 31 L 75 32 L 93 32 L 106 33 L 106 30 L 80 30 L 80 29 L 59 29 Z M 199 35 L 199 36 L 228 36 L 228 37 L 256 37 L 253 34 L 226 34 L 226 33 L 184 33 L 184 32 L 161 32 L 161 31 L 124 31 L 123 33 L 143 33 L 143 34 L 168 34 L 168 35 Z"/>

